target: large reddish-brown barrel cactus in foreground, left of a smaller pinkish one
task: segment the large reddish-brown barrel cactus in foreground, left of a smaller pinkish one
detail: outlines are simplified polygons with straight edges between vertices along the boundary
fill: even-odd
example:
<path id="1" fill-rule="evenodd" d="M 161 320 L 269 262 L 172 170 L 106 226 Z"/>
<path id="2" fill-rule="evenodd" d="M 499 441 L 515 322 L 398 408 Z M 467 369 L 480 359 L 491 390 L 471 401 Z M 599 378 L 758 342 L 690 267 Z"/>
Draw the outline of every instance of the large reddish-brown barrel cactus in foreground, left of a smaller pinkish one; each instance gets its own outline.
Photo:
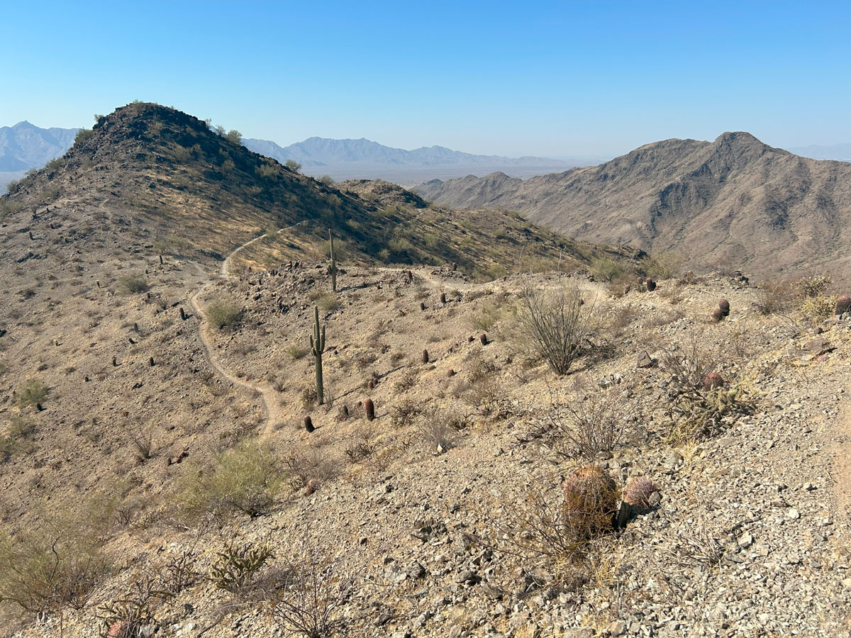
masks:
<path id="1" fill-rule="evenodd" d="M 598 465 L 583 465 L 563 483 L 564 517 L 577 535 L 589 537 L 612 527 L 618 488 Z"/>

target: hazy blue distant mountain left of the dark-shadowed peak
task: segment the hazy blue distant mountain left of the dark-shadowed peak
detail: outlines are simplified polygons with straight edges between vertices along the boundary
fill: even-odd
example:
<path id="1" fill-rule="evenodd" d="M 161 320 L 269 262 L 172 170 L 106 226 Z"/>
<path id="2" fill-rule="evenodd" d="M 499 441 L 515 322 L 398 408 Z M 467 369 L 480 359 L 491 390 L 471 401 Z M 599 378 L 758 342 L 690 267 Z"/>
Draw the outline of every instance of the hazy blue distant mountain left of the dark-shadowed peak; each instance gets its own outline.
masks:
<path id="1" fill-rule="evenodd" d="M 40 168 L 74 142 L 77 128 L 38 128 L 30 122 L 0 127 L 0 171 Z"/>

